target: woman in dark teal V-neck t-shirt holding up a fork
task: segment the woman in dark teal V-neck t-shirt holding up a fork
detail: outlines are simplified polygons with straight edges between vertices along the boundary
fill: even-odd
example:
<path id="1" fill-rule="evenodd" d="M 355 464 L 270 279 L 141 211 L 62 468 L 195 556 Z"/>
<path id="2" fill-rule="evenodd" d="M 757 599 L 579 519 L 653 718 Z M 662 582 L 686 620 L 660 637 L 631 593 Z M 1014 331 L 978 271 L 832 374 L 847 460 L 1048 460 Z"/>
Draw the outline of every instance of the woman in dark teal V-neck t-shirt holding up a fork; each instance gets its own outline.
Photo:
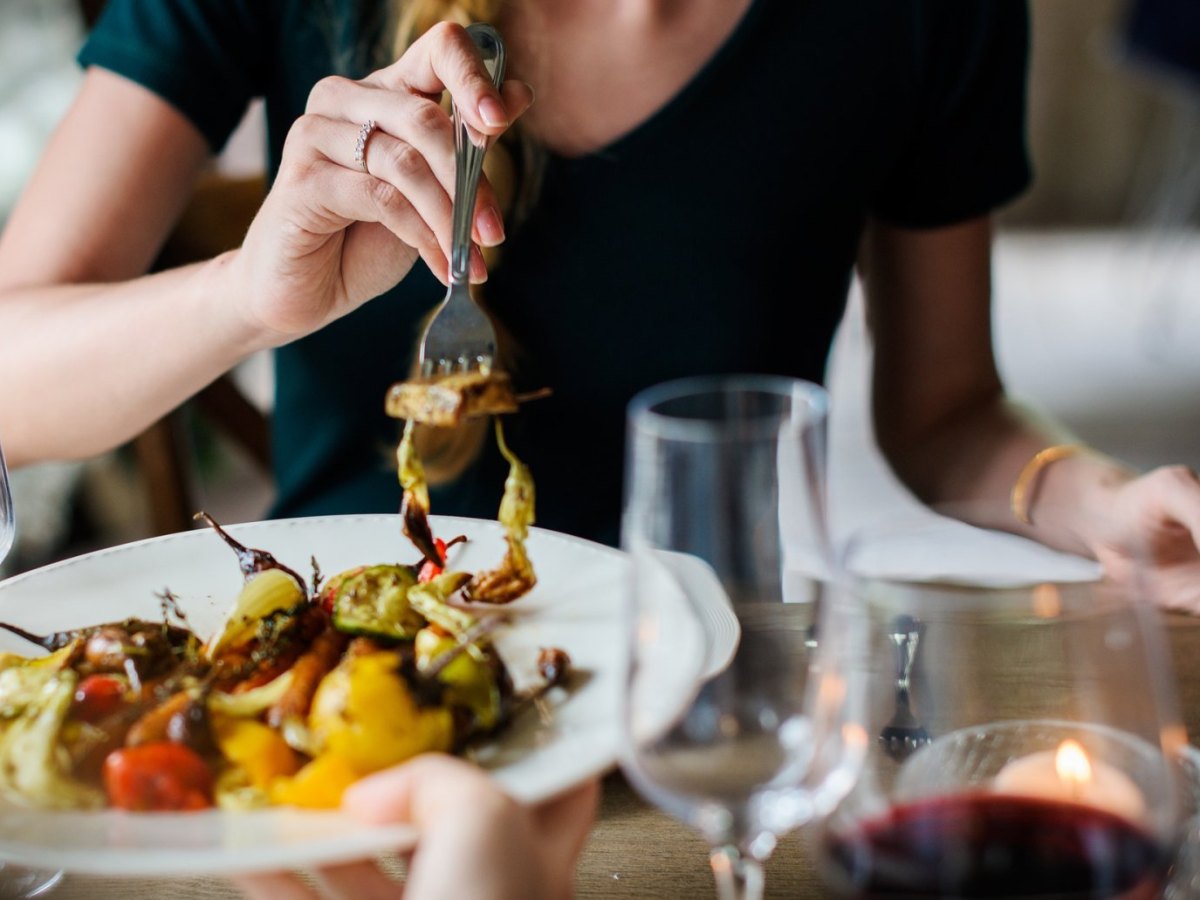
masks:
<path id="1" fill-rule="evenodd" d="M 1021 5 L 402 0 L 391 12 L 112 0 L 0 241 L 0 366 L 5 383 L 37 385 L 0 398 L 14 464 L 110 448 L 275 348 L 275 514 L 395 510 L 382 397 L 409 372 L 445 281 L 452 134 L 437 100 L 449 89 L 485 134 L 520 119 L 508 176 L 485 182 L 475 216 L 475 240 L 503 251 L 490 272 L 476 256 L 473 276 L 512 335 L 518 384 L 553 391 L 509 434 L 539 480 L 541 524 L 616 540 L 637 389 L 739 370 L 818 380 L 857 260 L 878 440 L 919 497 L 1012 498 L 1012 515 L 984 524 L 1110 566 L 1150 532 L 1168 568 L 1198 568 L 1190 472 L 1042 452 L 1057 438 L 1004 400 L 996 373 L 989 214 L 1028 180 Z M 430 26 L 468 17 L 506 36 L 503 91 L 461 28 Z M 389 47 L 398 59 L 379 67 Z M 271 190 L 245 242 L 144 275 L 256 95 Z M 485 449 L 434 510 L 493 515 L 503 472 Z M 1093 524 L 1114 518 L 1115 530 Z"/>

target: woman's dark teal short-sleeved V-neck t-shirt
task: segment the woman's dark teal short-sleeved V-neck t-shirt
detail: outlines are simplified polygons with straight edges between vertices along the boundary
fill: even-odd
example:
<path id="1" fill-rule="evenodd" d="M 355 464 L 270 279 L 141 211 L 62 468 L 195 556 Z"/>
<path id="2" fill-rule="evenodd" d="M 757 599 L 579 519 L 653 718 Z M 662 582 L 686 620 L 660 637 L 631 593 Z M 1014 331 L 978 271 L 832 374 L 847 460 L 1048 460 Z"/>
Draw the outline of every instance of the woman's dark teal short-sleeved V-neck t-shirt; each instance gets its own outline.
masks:
<path id="1" fill-rule="evenodd" d="M 362 76 L 378 10 L 353 0 L 109 0 L 80 53 L 161 94 L 220 149 L 265 97 L 274 173 L 325 74 Z M 716 372 L 820 382 L 868 215 L 925 228 L 1028 182 L 1020 0 L 755 0 L 706 67 L 630 133 L 551 156 L 509 227 L 487 300 L 516 336 L 505 424 L 539 524 L 617 539 L 624 410 L 650 384 Z M 272 515 L 395 511 L 388 386 L 443 288 L 421 265 L 275 353 Z M 436 512 L 492 517 L 493 448 Z"/>

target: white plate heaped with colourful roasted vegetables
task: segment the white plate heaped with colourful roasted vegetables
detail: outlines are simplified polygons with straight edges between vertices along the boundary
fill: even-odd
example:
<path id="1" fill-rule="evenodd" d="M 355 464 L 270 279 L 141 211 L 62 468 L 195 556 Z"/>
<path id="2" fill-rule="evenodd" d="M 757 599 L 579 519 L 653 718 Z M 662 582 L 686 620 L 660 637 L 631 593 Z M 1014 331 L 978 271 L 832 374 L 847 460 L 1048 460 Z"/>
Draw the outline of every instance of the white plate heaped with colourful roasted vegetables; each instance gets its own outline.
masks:
<path id="1" fill-rule="evenodd" d="M 626 559 L 500 518 L 206 520 L 0 583 L 0 860 L 306 868 L 410 841 L 337 805 L 419 752 L 602 773 Z"/>

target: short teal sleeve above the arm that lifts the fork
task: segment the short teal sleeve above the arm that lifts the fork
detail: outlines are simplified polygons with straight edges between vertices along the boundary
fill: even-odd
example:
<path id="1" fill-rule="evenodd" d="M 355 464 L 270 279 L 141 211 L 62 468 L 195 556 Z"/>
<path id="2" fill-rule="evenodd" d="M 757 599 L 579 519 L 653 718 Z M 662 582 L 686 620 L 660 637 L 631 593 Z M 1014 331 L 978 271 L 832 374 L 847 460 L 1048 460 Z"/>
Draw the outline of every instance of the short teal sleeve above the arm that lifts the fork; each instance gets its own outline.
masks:
<path id="1" fill-rule="evenodd" d="M 269 0 L 108 0 L 80 49 L 190 119 L 214 152 L 263 94 Z"/>

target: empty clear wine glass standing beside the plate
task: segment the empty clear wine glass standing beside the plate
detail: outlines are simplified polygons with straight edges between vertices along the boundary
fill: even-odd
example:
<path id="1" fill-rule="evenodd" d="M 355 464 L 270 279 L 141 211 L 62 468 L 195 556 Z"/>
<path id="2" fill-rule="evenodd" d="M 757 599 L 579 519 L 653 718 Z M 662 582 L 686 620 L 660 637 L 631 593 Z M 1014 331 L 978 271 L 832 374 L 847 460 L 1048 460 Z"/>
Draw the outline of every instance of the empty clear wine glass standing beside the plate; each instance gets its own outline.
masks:
<path id="1" fill-rule="evenodd" d="M 671 382 L 629 413 L 622 766 L 752 900 L 776 838 L 850 790 L 863 634 L 829 575 L 827 398 L 767 376 Z M 817 640 L 812 640 L 814 636 Z"/>

